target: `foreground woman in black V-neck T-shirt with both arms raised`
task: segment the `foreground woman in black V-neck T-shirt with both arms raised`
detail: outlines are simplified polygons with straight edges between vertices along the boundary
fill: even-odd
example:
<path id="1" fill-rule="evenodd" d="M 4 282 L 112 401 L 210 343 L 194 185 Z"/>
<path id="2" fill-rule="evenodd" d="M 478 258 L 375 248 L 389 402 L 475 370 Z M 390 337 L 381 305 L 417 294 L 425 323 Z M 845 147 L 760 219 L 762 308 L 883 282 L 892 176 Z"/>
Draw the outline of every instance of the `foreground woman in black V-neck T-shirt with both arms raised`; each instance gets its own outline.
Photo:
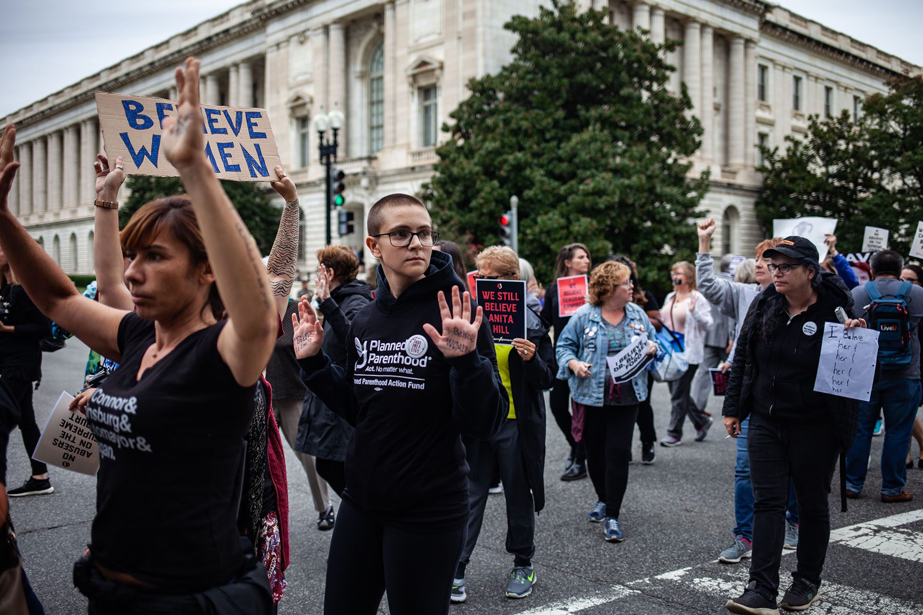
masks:
<path id="1" fill-rule="evenodd" d="M 256 243 L 205 158 L 198 60 L 176 70 L 176 86 L 178 117 L 164 122 L 161 150 L 188 197 L 141 207 L 123 231 L 135 312 L 80 295 L 6 207 L 19 166 L 12 125 L 0 145 L 0 246 L 42 313 L 120 362 L 87 405 L 102 459 L 74 580 L 90 611 L 200 613 L 210 603 L 268 613 L 266 572 L 236 516 L 244 434 L 278 315 Z"/>

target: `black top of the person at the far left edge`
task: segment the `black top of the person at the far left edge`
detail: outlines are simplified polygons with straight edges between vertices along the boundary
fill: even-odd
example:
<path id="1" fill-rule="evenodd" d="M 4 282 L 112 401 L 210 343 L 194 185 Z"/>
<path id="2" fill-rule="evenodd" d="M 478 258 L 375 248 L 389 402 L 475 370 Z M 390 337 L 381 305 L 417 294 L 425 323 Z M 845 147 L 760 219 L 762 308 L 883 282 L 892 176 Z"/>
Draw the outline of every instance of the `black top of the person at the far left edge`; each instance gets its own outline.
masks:
<path id="1" fill-rule="evenodd" d="M 52 323 L 35 307 L 18 284 L 4 284 L 0 290 L 8 303 L 6 325 L 12 333 L 0 333 L 0 373 L 6 378 L 35 382 L 42 379 L 42 338 L 52 334 Z"/>

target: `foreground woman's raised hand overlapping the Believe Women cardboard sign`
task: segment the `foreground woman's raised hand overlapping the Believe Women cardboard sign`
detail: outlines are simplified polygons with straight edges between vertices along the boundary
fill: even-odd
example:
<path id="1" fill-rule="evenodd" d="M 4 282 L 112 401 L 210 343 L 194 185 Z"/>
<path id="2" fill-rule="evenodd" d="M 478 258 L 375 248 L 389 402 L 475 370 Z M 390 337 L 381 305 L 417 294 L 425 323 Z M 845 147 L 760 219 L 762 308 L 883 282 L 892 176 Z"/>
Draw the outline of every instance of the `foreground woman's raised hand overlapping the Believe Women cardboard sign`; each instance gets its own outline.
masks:
<path id="1" fill-rule="evenodd" d="M 205 161 L 205 141 L 202 136 L 202 112 L 198 106 L 198 60 L 186 58 L 185 68 L 176 69 L 176 90 L 179 105 L 176 115 L 163 120 L 161 151 L 174 167 Z"/>

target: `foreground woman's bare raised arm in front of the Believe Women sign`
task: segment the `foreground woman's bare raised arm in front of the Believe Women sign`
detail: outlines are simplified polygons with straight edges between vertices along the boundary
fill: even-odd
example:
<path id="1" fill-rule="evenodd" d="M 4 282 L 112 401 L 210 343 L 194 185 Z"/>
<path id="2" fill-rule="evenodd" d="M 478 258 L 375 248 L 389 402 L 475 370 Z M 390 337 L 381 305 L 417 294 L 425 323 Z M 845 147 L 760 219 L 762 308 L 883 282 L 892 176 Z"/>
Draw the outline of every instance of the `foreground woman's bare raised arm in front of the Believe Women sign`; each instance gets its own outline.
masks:
<path id="1" fill-rule="evenodd" d="M 161 150 L 179 171 L 192 200 L 227 310 L 218 352 L 237 383 L 246 386 L 257 382 L 269 361 L 279 315 L 257 243 L 205 158 L 198 67 L 197 59 L 187 58 L 185 68 L 176 69 L 179 106 L 175 116 L 163 121 Z"/>

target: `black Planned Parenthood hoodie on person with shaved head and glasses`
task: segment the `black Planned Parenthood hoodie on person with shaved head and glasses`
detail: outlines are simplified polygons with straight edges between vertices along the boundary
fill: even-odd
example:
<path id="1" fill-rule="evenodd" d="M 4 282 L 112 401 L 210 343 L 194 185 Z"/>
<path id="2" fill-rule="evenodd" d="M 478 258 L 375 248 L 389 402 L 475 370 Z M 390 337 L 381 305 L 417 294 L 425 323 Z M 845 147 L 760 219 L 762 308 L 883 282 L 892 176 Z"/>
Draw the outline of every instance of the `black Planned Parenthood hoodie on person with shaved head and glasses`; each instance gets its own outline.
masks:
<path id="1" fill-rule="evenodd" d="M 462 433 L 490 438 L 509 411 L 486 320 L 476 351 L 454 359 L 423 330 L 429 323 L 441 331 L 437 292 L 451 301 L 452 286 L 463 290 L 449 256 L 436 251 L 426 278 L 398 298 L 379 267 L 376 301 L 350 325 L 345 370 L 323 353 L 299 361 L 307 387 L 355 425 L 343 498 L 395 526 L 464 526 Z"/>

